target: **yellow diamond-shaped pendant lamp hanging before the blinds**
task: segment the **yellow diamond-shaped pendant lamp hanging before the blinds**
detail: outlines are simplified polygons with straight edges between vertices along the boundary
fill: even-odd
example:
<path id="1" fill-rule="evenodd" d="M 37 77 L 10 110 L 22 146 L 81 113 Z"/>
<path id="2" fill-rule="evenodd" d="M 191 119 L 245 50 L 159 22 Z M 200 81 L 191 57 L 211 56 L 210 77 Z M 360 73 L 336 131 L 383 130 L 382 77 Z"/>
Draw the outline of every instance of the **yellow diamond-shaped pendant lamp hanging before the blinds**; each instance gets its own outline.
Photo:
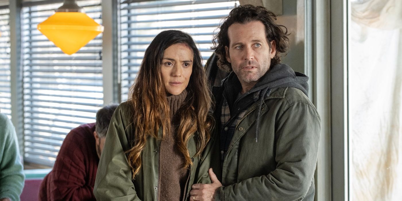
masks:
<path id="1" fill-rule="evenodd" d="M 64 0 L 63 6 L 37 29 L 64 53 L 71 55 L 102 33 L 104 27 L 86 15 L 76 0 Z"/>

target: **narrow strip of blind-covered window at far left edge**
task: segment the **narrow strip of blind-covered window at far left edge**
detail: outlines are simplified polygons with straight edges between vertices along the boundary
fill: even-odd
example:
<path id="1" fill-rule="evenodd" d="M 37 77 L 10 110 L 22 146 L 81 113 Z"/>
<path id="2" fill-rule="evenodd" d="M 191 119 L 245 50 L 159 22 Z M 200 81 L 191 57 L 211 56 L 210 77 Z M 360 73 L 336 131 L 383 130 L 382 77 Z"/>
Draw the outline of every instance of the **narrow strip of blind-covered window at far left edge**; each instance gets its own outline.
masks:
<path id="1" fill-rule="evenodd" d="M 0 110 L 11 118 L 9 12 L 0 7 Z"/>

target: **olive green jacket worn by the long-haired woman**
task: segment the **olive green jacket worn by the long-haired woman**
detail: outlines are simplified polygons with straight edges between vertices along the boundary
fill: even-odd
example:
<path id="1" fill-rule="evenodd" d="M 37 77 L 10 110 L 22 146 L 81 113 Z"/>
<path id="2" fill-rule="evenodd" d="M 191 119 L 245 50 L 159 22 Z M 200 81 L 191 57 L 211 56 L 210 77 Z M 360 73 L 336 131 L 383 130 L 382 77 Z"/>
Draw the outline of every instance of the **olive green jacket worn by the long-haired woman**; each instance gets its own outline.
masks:
<path id="1" fill-rule="evenodd" d="M 128 165 L 125 151 L 131 148 L 133 127 L 128 102 L 121 103 L 115 110 L 106 135 L 105 148 L 100 157 L 98 172 L 94 186 L 96 200 L 132 201 L 158 200 L 159 196 L 159 150 L 160 139 L 148 137 L 142 151 L 142 167 L 132 180 L 131 168 Z M 158 136 L 162 137 L 161 129 Z M 200 156 L 196 154 L 197 136 L 189 139 L 189 150 L 193 165 L 185 188 L 185 199 L 189 198 L 191 185 L 195 183 L 211 183 L 208 169 L 213 168 L 218 178 L 221 173 L 219 162 L 219 141 L 212 135 L 211 140 Z"/>

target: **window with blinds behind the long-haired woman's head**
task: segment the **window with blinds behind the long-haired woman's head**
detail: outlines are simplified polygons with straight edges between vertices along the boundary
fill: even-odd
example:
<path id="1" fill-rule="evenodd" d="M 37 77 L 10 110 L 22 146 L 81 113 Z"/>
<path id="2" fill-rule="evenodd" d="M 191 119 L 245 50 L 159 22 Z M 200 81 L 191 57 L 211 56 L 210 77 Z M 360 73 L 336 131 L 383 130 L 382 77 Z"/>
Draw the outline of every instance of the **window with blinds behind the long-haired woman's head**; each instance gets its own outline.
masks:
<path id="1" fill-rule="evenodd" d="M 211 56 L 213 31 L 238 1 L 144 1 L 120 4 L 121 100 L 127 94 L 144 57 L 144 51 L 161 31 L 178 29 L 189 33 L 205 61 Z"/>

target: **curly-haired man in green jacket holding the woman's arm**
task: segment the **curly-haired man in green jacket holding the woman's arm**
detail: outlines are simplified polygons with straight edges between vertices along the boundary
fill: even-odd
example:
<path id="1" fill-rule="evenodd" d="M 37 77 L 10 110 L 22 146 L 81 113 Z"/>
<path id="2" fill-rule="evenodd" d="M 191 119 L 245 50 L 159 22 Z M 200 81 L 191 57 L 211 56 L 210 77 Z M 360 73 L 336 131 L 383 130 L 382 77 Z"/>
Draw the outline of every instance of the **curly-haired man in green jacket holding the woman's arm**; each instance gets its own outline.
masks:
<path id="1" fill-rule="evenodd" d="M 314 200 L 320 117 L 308 77 L 281 64 L 287 30 L 260 6 L 234 8 L 215 35 L 221 68 L 213 88 L 222 184 L 195 184 L 190 200 Z M 285 30 L 286 31 L 285 31 Z"/>

